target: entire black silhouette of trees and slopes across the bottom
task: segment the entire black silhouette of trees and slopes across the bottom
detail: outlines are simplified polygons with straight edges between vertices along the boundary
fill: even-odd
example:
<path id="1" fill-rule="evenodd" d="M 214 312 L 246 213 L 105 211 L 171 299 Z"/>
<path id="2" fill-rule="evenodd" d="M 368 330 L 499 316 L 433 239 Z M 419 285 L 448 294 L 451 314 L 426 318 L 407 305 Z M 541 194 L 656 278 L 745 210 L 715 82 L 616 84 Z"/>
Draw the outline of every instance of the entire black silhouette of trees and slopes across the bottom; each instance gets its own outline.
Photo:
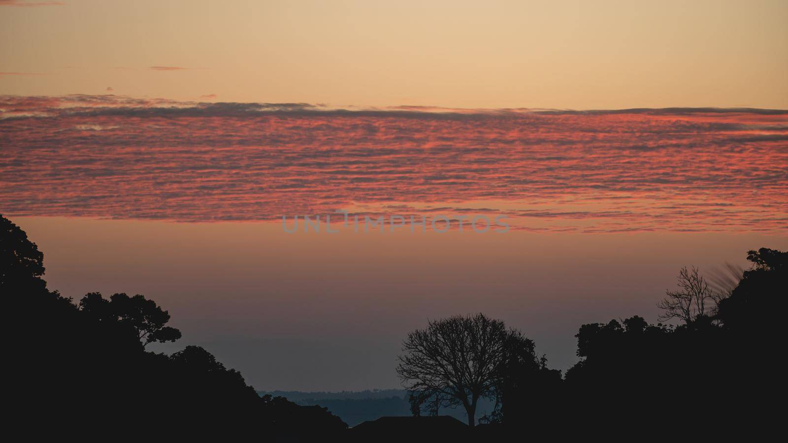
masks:
<path id="1" fill-rule="evenodd" d="M 181 337 L 163 307 L 122 292 L 61 296 L 43 279 L 43 253 L 0 215 L 5 398 L 17 426 L 72 430 L 76 423 L 83 434 L 103 426 L 268 441 L 756 433 L 776 423 L 769 402 L 782 400 L 772 363 L 782 344 L 788 252 L 760 248 L 747 259 L 752 266 L 728 290 L 709 289 L 697 270 L 682 269 L 678 289 L 659 303 L 663 318 L 678 324 L 634 315 L 580 326 L 578 363 L 566 374 L 503 322 L 481 314 L 429 322 L 403 342 L 397 371 L 407 398 L 374 399 L 390 403 L 384 414 L 401 416 L 379 419 L 348 412 L 344 403 L 361 398 L 293 399 L 298 404 L 260 395 L 198 346 L 169 356 L 148 351 L 147 344 Z M 325 400 L 334 400 L 330 408 Z M 485 401 L 492 407 L 478 423 L 443 416 L 447 407 L 472 412 Z M 348 428 L 338 411 L 363 423 Z"/>

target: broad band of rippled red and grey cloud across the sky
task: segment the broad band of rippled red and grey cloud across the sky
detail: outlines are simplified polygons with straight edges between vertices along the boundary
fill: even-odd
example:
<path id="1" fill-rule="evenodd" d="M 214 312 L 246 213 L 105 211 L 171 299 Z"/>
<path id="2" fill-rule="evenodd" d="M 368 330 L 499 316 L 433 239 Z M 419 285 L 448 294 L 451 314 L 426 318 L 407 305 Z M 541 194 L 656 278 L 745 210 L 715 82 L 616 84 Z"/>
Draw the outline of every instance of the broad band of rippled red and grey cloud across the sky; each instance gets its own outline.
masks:
<path id="1" fill-rule="evenodd" d="M 0 97 L 0 211 L 503 214 L 535 232 L 788 231 L 788 111 L 327 109 Z"/>

